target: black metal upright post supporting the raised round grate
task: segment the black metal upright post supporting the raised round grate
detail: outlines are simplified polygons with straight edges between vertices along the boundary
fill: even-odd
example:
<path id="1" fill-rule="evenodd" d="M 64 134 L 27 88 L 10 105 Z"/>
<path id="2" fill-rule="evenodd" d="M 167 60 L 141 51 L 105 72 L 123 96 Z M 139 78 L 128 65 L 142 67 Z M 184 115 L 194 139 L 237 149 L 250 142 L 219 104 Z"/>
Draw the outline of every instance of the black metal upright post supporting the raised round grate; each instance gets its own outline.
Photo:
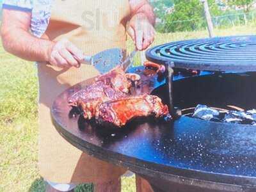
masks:
<path id="1" fill-rule="evenodd" d="M 172 115 L 172 117 L 174 119 L 179 118 L 182 113 L 180 111 L 180 109 L 174 108 L 173 106 L 173 68 L 172 65 L 167 65 L 167 79 L 166 79 L 166 84 L 167 84 L 167 88 L 168 88 L 168 95 L 169 95 L 169 111 L 170 111 L 170 115 Z"/>

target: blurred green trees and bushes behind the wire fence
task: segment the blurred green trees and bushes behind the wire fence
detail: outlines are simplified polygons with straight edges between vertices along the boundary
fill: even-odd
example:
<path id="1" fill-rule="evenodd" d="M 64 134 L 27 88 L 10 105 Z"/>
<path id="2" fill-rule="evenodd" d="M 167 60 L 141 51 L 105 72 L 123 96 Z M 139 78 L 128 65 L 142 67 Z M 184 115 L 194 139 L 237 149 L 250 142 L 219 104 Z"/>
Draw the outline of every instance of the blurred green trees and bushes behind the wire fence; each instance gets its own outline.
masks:
<path id="1" fill-rule="evenodd" d="M 207 28 L 200 0 L 151 0 L 157 31 L 170 33 Z M 229 28 L 255 22 L 256 0 L 208 0 L 214 28 Z"/>

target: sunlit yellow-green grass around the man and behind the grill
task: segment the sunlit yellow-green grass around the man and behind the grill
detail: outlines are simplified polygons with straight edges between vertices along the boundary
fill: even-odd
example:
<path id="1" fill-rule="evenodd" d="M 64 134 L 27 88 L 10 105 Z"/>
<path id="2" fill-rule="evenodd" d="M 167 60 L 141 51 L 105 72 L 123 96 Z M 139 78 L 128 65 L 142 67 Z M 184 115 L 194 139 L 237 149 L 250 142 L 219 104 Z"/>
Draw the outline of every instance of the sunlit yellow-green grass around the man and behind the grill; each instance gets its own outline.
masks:
<path id="1" fill-rule="evenodd" d="M 255 31 L 254 26 L 241 26 L 215 32 L 227 36 Z M 157 34 L 154 45 L 203 37 L 207 31 Z M 132 50 L 131 41 L 128 47 Z M 0 191 L 45 191 L 37 168 L 37 89 L 33 63 L 15 58 L 0 46 Z M 135 191 L 134 177 L 122 179 L 122 190 Z M 92 186 L 81 185 L 76 191 L 92 191 Z"/>

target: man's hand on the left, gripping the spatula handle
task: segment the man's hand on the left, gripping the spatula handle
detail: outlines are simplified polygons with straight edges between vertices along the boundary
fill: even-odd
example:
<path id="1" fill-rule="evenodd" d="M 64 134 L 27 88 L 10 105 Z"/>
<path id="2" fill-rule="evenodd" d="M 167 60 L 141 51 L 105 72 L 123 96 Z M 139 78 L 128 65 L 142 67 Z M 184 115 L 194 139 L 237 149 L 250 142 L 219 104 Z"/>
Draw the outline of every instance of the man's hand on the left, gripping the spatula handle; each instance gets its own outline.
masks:
<path id="1" fill-rule="evenodd" d="M 49 63 L 51 65 L 68 68 L 80 67 L 83 52 L 67 39 L 60 40 L 49 47 Z"/>

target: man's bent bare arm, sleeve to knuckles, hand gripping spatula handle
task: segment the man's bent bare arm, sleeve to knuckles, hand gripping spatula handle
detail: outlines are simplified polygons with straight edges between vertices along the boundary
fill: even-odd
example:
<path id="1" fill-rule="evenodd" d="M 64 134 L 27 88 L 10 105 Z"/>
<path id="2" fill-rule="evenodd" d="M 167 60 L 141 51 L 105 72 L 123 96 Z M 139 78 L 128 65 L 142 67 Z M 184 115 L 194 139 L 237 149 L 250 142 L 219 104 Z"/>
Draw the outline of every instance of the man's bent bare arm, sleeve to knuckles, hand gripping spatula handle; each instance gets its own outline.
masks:
<path id="1" fill-rule="evenodd" d="M 58 67 L 79 67 L 83 53 L 67 40 L 51 42 L 29 32 L 31 13 L 3 9 L 1 38 L 6 51 L 29 61 L 49 61 Z M 73 56 L 78 58 L 74 59 Z"/>

